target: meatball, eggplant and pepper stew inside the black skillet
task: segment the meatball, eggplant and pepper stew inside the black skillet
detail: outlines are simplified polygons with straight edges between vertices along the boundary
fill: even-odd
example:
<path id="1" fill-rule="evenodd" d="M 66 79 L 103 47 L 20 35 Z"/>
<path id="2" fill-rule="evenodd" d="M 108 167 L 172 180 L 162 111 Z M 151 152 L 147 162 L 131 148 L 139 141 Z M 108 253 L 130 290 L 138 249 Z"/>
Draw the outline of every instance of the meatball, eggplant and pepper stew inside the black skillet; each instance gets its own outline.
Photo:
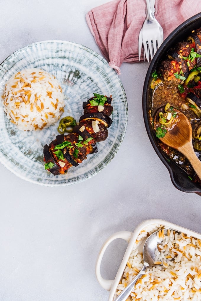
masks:
<path id="1" fill-rule="evenodd" d="M 201 159 L 201 29 L 196 29 L 186 41 L 170 49 L 152 76 L 150 122 L 153 122 L 155 112 L 167 103 L 180 110 L 190 120 L 193 148 Z M 193 182 L 201 184 L 184 155 L 160 140 L 158 144 L 168 160 L 179 165 Z"/>

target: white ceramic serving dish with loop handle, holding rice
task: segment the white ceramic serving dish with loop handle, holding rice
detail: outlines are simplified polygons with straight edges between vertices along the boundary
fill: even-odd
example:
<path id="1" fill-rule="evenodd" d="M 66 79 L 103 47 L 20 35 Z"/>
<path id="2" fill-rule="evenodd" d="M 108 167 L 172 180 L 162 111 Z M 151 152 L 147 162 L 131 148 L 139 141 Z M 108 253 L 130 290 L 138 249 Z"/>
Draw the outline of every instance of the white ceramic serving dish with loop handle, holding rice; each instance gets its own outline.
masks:
<path id="1" fill-rule="evenodd" d="M 183 232 L 184 234 L 187 234 L 187 236 L 192 236 L 195 237 L 197 239 L 201 239 L 201 234 L 191 231 L 189 229 L 183 228 L 181 226 L 175 225 L 171 222 L 167 222 L 165 220 L 162 219 L 148 219 L 145 220 L 144 222 L 140 223 L 140 225 L 137 226 L 137 228 L 135 229 L 134 232 L 129 232 L 129 231 L 120 231 L 120 232 L 116 232 L 113 235 L 111 235 L 103 244 L 98 258 L 97 258 L 97 262 L 96 262 L 96 277 L 97 280 L 99 281 L 99 284 L 105 289 L 108 290 L 109 293 L 109 297 L 108 297 L 108 301 L 113 301 L 117 295 L 116 295 L 116 290 L 118 287 L 118 284 L 122 278 L 122 275 L 124 273 L 124 269 L 126 267 L 127 261 L 130 257 L 130 253 L 133 250 L 133 245 L 137 239 L 138 234 L 140 233 L 140 231 L 142 231 L 145 227 L 147 226 L 151 226 L 151 225 L 155 225 L 155 224 L 159 224 L 161 226 L 164 226 L 165 228 L 171 228 L 177 232 Z M 117 238 L 122 238 L 124 240 L 127 241 L 128 243 L 128 247 L 124 253 L 124 257 L 122 259 L 121 265 L 118 269 L 118 272 L 115 276 L 114 280 L 107 280 L 102 278 L 101 273 L 100 273 L 100 266 L 101 266 L 101 262 L 102 262 L 102 258 L 103 255 L 105 253 L 105 250 L 107 249 L 108 245 L 115 239 Z M 143 245 L 142 245 L 143 247 Z"/>

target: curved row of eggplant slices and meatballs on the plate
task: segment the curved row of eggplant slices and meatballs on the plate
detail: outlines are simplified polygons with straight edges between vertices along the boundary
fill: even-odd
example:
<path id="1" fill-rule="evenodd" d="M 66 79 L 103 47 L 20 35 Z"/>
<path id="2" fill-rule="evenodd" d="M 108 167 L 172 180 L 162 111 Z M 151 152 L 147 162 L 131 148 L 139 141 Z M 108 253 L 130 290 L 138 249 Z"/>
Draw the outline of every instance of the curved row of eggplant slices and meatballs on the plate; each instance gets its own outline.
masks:
<path id="1" fill-rule="evenodd" d="M 78 166 L 88 154 L 97 153 L 96 142 L 108 137 L 112 124 L 112 98 L 94 93 L 94 97 L 83 102 L 84 114 L 72 132 L 56 136 L 49 146 L 43 147 L 45 169 L 53 175 L 64 174 L 71 166 Z"/>

